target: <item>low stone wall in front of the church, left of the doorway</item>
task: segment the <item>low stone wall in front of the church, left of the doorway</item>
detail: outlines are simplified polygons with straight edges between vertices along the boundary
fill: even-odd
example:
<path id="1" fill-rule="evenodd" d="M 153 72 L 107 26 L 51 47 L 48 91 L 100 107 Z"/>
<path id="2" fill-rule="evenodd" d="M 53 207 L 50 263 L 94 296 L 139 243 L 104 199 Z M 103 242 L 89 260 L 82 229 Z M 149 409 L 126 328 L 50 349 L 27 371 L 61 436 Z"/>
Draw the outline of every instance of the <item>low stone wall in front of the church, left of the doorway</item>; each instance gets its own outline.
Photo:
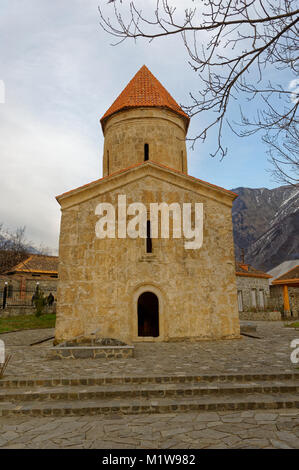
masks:
<path id="1" fill-rule="evenodd" d="M 134 346 L 55 346 L 50 354 L 56 359 L 127 359 Z"/>

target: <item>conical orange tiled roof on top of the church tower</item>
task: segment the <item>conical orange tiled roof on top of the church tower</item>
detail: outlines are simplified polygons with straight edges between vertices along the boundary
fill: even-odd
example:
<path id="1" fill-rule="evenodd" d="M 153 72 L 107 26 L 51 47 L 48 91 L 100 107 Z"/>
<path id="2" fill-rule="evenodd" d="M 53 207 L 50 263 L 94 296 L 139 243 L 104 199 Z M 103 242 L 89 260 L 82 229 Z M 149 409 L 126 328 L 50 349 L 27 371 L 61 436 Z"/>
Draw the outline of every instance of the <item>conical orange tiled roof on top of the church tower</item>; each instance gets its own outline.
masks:
<path id="1" fill-rule="evenodd" d="M 159 80 L 143 65 L 121 94 L 101 118 L 101 124 L 119 111 L 131 108 L 158 107 L 167 108 L 184 117 L 189 124 L 189 116 L 172 98 Z"/>

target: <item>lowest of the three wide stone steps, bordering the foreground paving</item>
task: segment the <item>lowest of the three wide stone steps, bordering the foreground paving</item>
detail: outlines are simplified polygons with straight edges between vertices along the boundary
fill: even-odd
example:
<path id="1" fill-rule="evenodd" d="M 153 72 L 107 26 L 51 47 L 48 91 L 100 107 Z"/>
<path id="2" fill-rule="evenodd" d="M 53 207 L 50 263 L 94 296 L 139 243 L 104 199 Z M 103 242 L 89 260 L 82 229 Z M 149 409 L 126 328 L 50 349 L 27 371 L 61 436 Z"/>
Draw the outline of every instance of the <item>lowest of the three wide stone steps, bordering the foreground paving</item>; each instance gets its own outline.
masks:
<path id="1" fill-rule="evenodd" d="M 130 400 L 73 400 L 55 402 L 1 403 L 0 416 L 86 416 L 100 414 L 173 413 L 186 411 L 228 411 L 299 408 L 297 394 L 249 394 L 234 397 L 190 397 Z"/>

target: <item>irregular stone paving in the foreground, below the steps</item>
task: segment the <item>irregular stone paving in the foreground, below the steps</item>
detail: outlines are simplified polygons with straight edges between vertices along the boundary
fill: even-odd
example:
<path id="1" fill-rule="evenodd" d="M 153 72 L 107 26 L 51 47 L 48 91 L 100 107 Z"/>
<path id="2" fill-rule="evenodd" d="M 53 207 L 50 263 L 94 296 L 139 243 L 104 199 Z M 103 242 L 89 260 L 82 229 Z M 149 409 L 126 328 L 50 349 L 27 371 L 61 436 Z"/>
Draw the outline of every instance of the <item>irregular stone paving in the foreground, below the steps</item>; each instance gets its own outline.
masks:
<path id="1" fill-rule="evenodd" d="M 299 448 L 298 410 L 1 418 L 1 448 Z"/>

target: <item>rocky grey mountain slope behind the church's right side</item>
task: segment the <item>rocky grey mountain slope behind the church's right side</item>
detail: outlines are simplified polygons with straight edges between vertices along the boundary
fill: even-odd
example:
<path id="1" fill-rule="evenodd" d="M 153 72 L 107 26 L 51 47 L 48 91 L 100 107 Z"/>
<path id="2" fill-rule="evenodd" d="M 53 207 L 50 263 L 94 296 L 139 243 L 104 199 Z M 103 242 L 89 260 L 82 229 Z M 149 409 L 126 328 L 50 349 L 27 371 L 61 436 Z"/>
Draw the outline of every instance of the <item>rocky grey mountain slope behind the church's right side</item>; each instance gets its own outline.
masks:
<path id="1" fill-rule="evenodd" d="M 299 258 L 299 187 L 232 189 L 235 253 L 268 271 L 287 259 Z"/>

